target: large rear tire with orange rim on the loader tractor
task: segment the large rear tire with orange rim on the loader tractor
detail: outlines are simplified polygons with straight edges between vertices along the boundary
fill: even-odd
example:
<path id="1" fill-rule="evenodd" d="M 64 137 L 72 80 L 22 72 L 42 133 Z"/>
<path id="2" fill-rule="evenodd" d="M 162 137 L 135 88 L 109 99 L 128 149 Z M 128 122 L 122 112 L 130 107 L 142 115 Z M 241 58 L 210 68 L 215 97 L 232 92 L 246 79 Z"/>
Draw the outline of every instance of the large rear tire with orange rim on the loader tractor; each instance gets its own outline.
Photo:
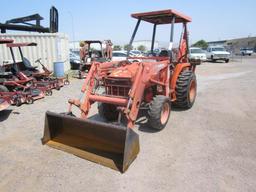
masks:
<path id="1" fill-rule="evenodd" d="M 190 109 L 196 99 L 197 81 L 193 71 L 182 71 L 176 83 L 176 101 L 178 108 Z"/>

